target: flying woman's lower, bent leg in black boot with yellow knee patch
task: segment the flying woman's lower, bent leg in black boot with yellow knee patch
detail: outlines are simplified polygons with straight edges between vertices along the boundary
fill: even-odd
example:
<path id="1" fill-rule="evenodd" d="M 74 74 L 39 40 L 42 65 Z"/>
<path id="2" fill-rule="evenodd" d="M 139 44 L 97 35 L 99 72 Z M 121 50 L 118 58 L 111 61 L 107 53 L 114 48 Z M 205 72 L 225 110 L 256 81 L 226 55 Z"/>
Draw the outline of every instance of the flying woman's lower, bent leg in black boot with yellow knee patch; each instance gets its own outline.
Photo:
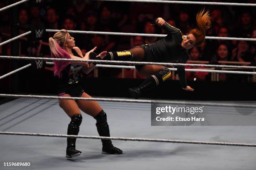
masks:
<path id="1" fill-rule="evenodd" d="M 171 71 L 168 68 L 163 68 L 154 75 L 149 76 L 138 87 L 129 88 L 129 94 L 131 97 L 138 99 L 143 92 L 163 83 L 167 78 L 171 76 Z"/>

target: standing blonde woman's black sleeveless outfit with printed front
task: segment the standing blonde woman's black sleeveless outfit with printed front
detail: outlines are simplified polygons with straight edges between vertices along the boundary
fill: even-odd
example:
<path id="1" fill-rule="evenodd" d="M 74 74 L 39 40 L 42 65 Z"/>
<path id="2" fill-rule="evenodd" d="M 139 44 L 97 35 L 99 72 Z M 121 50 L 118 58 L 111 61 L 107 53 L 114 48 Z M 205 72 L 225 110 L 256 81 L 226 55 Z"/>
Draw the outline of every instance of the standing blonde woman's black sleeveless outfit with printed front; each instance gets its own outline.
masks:
<path id="1" fill-rule="evenodd" d="M 81 57 L 74 49 L 74 56 Z M 72 88 L 82 87 L 80 83 L 82 65 L 67 65 L 61 71 L 62 76 L 58 80 L 58 93 L 67 92 Z"/>

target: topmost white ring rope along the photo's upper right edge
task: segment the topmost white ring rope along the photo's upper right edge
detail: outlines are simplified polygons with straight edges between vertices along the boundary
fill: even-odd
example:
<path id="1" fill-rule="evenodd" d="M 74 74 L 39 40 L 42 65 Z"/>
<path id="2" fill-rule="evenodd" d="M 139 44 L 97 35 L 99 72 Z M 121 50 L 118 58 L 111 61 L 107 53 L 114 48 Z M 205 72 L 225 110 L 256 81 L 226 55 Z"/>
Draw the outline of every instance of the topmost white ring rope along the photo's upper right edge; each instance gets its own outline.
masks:
<path id="1" fill-rule="evenodd" d="M 234 5 L 234 6 L 256 6 L 252 3 L 229 3 L 229 2 L 193 2 L 177 0 L 102 0 L 115 2 L 154 2 L 154 3 L 175 3 L 175 4 L 197 4 L 197 5 Z"/>

